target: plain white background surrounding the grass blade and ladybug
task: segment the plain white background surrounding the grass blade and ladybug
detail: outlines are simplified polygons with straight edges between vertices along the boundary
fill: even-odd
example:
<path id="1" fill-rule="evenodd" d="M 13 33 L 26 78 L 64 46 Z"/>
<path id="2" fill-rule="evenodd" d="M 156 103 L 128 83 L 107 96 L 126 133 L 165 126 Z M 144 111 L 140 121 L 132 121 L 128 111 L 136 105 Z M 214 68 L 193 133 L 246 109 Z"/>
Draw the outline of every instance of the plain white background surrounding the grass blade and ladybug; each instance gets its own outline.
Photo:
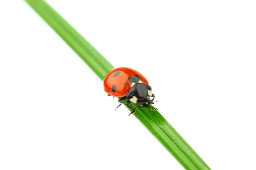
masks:
<path id="1" fill-rule="evenodd" d="M 256 169 L 253 1 L 48 0 L 215 170 Z M 183 170 L 23 1 L 0 2 L 1 170 Z"/>

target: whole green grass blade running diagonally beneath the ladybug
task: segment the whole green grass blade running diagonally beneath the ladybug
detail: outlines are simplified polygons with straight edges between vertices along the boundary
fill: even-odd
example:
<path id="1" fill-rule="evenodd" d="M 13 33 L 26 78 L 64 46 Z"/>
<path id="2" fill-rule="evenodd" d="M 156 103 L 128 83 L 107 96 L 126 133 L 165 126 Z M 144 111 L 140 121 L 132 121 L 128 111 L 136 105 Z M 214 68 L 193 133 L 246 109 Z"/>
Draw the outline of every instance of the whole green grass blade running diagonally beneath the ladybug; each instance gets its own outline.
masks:
<path id="1" fill-rule="evenodd" d="M 87 40 L 68 24 L 44 0 L 25 0 L 53 30 L 81 57 L 82 60 L 103 80 L 113 68 Z M 135 106 L 131 104 L 132 106 Z M 207 164 L 189 146 L 179 133 L 158 111 L 137 108 L 134 116 L 187 170 L 210 170 Z"/>

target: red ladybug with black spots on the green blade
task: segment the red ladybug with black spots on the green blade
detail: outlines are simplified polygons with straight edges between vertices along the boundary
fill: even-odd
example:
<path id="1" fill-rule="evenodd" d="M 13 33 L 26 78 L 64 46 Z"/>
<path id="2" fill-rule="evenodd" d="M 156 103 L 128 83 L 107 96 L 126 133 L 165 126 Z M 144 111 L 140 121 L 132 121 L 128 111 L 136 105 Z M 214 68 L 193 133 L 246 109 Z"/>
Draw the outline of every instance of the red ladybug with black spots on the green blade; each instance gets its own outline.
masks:
<path id="1" fill-rule="evenodd" d="M 108 96 L 120 98 L 118 100 L 120 105 L 125 99 L 128 99 L 126 106 L 132 110 L 129 116 L 136 112 L 137 107 L 157 109 L 151 107 L 151 104 L 154 104 L 155 96 L 152 94 L 152 88 L 149 86 L 148 80 L 139 71 L 127 67 L 113 68 L 104 78 L 103 84 L 104 91 L 108 93 Z M 150 97 L 153 97 L 153 99 L 150 99 Z M 137 104 L 137 107 L 129 106 L 130 103 Z"/>

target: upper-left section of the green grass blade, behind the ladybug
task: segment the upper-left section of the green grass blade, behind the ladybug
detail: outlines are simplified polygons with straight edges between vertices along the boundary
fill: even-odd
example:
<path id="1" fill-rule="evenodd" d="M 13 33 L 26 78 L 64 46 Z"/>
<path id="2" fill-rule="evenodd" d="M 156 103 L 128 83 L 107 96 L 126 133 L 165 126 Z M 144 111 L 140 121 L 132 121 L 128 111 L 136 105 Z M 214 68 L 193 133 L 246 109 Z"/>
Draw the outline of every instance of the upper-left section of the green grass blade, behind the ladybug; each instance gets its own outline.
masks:
<path id="1" fill-rule="evenodd" d="M 56 31 L 59 36 L 81 57 L 82 60 L 103 79 L 113 68 L 87 40 L 43 0 L 26 0 L 30 6 Z"/>

